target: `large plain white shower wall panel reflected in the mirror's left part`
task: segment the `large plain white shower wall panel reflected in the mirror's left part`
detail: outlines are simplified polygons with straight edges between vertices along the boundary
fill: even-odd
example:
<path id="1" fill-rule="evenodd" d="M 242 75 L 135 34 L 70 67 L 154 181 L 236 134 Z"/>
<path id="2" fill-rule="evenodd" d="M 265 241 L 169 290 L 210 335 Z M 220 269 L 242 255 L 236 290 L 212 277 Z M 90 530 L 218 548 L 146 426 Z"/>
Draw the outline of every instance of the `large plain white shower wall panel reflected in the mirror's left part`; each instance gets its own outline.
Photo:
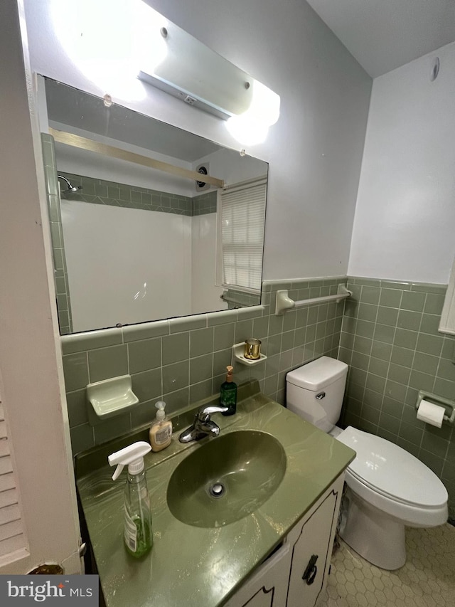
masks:
<path id="1" fill-rule="evenodd" d="M 61 209 L 75 332 L 191 314 L 191 217 L 75 201 Z"/>

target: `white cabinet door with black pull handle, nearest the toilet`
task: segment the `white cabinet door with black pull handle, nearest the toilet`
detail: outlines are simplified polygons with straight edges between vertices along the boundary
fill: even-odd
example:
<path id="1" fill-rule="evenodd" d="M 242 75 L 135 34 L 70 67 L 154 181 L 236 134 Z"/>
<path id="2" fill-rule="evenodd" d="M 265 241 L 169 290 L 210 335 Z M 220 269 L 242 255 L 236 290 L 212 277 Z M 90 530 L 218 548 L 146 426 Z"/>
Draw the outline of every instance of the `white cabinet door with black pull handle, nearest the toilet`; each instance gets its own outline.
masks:
<path id="1" fill-rule="evenodd" d="M 292 543 L 287 607 L 314 607 L 325 586 L 330 566 L 333 523 L 338 514 L 338 492 L 331 491 L 301 524 Z"/>

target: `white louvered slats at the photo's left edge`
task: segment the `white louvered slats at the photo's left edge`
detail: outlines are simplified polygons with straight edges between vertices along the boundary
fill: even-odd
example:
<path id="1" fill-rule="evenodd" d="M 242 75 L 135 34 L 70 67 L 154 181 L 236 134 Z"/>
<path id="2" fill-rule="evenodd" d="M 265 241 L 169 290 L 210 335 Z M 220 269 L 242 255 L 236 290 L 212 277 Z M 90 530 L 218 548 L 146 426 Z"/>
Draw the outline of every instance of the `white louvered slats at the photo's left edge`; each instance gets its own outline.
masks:
<path id="1" fill-rule="evenodd" d="M 7 562 L 9 554 L 24 547 L 26 538 L 11 457 L 11 439 L 0 403 L 0 563 Z"/>

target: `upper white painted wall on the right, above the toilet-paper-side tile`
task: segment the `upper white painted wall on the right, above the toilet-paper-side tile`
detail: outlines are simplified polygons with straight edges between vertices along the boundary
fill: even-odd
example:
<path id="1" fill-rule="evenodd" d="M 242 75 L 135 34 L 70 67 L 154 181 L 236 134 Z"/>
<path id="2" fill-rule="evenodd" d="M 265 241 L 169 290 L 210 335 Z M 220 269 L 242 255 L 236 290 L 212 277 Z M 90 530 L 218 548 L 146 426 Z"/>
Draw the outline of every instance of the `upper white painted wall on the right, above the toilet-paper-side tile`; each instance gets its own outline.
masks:
<path id="1" fill-rule="evenodd" d="M 429 75 L 440 60 L 434 82 Z M 376 78 L 348 273 L 446 284 L 455 255 L 455 43 Z"/>

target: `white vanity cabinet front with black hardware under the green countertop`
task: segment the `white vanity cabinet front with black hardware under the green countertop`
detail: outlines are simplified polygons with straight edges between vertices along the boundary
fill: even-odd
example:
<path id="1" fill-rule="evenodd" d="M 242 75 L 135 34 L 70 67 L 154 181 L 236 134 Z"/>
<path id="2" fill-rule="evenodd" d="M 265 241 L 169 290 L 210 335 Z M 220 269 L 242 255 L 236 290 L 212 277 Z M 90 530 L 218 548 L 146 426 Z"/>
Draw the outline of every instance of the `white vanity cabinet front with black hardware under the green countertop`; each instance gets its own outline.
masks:
<path id="1" fill-rule="evenodd" d="M 225 607 L 315 607 L 326 588 L 344 473 Z"/>

